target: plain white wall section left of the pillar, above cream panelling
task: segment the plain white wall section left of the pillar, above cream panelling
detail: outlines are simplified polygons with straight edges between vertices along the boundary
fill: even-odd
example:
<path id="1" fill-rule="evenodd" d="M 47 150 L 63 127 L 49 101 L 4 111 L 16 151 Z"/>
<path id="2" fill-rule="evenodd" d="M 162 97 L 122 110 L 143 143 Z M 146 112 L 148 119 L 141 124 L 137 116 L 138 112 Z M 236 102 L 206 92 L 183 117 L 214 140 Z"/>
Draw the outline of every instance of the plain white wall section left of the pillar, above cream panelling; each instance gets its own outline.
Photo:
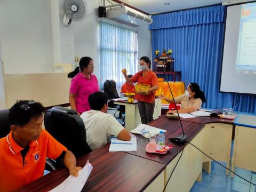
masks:
<path id="1" fill-rule="evenodd" d="M 51 0 L 0 1 L 6 74 L 52 71 Z"/>

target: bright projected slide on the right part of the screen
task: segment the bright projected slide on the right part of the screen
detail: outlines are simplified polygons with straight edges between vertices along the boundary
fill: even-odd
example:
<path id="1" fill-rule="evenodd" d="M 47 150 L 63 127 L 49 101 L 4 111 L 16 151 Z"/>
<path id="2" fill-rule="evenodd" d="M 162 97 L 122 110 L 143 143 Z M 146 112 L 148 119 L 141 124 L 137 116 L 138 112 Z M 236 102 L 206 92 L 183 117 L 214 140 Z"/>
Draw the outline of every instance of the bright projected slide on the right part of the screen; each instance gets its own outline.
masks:
<path id="1" fill-rule="evenodd" d="M 256 70 L 256 4 L 242 5 L 236 69 Z M 251 71 L 253 73 L 253 71 Z"/>

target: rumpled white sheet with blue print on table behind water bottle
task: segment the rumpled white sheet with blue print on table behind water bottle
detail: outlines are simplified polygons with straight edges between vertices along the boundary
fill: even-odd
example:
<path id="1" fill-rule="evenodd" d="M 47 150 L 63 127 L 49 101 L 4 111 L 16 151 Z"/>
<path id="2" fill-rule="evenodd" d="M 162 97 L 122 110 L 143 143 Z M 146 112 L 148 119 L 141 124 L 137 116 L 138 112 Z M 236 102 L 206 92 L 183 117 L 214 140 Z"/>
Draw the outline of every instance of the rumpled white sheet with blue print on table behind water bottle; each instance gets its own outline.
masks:
<path id="1" fill-rule="evenodd" d="M 158 129 L 153 126 L 139 124 L 134 130 L 130 131 L 130 133 L 141 134 L 143 137 L 149 139 L 149 137 L 154 137 L 159 134 L 160 131 L 166 132 L 166 130 Z"/>

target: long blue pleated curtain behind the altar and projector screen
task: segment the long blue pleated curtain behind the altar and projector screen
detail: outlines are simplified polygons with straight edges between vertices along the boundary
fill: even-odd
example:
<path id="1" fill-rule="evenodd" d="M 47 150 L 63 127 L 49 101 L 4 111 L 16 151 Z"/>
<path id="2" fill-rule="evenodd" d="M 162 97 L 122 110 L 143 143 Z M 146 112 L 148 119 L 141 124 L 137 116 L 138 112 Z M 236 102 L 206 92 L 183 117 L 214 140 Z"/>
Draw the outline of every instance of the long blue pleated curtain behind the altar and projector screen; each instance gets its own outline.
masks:
<path id="1" fill-rule="evenodd" d="M 153 15 L 151 30 L 152 55 L 172 49 L 174 70 L 181 71 L 181 81 L 198 83 L 204 91 L 203 107 L 233 107 L 255 113 L 255 97 L 220 93 L 220 67 L 224 41 L 225 7 Z M 170 78 L 169 78 L 170 79 Z"/>

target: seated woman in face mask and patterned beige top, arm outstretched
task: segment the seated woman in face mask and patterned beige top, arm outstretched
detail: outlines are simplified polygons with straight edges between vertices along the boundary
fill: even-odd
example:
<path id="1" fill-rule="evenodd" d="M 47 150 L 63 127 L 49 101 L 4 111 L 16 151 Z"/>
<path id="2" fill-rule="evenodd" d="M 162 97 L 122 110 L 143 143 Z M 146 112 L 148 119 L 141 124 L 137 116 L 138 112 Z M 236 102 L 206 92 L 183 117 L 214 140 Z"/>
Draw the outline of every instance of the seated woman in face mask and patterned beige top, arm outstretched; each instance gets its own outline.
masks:
<path id="1" fill-rule="evenodd" d="M 166 98 L 162 94 L 159 96 L 160 99 L 164 99 L 167 102 L 173 102 L 173 99 Z M 179 113 L 192 113 L 196 110 L 200 110 L 202 102 L 205 102 L 204 92 L 200 90 L 200 87 L 197 83 L 189 83 L 185 94 L 174 98 L 176 103 L 181 103 L 181 107 L 178 110 Z M 176 110 L 169 110 L 167 114 L 177 113 Z"/>

